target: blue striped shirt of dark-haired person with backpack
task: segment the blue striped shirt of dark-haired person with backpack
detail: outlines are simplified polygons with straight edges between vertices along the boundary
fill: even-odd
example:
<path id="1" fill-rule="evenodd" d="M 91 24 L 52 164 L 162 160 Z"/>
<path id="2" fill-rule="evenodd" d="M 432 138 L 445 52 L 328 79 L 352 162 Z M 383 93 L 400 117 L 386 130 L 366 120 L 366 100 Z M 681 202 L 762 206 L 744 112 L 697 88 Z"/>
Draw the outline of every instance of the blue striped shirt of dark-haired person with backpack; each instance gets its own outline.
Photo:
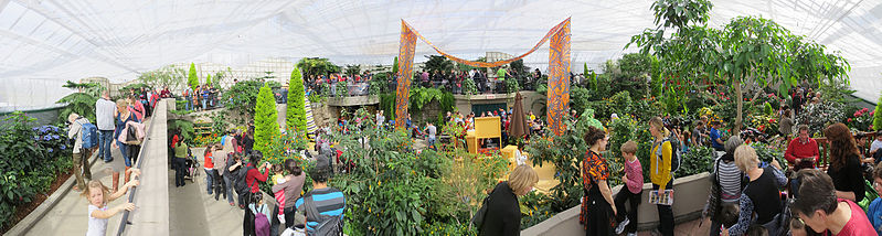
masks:
<path id="1" fill-rule="evenodd" d="M 346 196 L 343 196 L 343 192 L 334 187 L 323 187 L 309 191 L 304 197 L 298 199 L 297 202 L 294 203 L 298 212 L 308 212 L 306 211 L 306 206 L 304 206 L 304 201 L 310 195 L 312 196 L 312 202 L 316 204 L 316 210 L 321 215 L 340 216 L 343 214 L 343 210 L 346 210 Z M 318 225 L 319 222 L 317 222 L 316 218 L 307 217 L 307 232 L 315 230 L 315 227 Z"/>

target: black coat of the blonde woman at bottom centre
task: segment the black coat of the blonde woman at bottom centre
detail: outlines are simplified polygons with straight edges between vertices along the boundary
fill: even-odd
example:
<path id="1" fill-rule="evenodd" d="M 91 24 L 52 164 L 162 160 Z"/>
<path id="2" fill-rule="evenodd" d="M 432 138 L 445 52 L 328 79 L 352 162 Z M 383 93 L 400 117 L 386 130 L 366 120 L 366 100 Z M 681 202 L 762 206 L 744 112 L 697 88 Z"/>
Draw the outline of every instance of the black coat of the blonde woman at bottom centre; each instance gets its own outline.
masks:
<path id="1" fill-rule="evenodd" d="M 490 193 L 479 235 L 521 235 L 521 208 L 508 182 L 497 184 Z"/>

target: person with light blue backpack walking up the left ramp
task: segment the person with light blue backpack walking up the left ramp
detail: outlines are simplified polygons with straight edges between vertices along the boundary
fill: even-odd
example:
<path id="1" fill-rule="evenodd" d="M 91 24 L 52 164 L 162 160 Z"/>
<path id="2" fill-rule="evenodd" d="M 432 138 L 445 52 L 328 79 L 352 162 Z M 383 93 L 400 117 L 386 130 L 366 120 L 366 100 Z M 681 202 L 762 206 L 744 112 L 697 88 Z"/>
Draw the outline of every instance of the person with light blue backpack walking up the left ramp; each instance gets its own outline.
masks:
<path id="1" fill-rule="evenodd" d="M 76 186 L 74 191 L 83 191 L 86 187 L 86 182 L 83 179 L 92 180 L 92 171 L 88 167 L 88 158 L 92 157 L 92 151 L 98 147 L 98 128 L 88 122 L 88 119 L 72 112 L 67 116 L 67 138 L 74 139 L 73 161 L 74 161 L 74 176 L 76 178 Z M 82 169 L 82 171 L 81 171 Z"/>

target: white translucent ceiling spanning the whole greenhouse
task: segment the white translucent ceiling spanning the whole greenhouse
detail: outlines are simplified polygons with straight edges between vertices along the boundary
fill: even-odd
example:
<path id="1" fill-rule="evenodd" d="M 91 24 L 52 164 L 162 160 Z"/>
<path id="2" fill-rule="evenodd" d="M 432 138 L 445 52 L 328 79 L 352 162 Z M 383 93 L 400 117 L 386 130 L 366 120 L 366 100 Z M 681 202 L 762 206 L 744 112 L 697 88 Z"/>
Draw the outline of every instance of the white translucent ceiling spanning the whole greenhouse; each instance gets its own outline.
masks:
<path id="1" fill-rule="evenodd" d="M 630 36 L 652 26 L 652 1 L 466 0 L 0 0 L 0 106 L 51 104 L 65 81 L 111 82 L 174 63 L 234 68 L 263 58 L 329 57 L 342 64 L 391 64 L 400 19 L 465 58 L 520 54 L 572 17 L 573 71 L 621 55 Z M 882 2 L 844 0 L 716 1 L 711 22 L 771 18 L 796 34 L 841 51 L 858 96 L 882 90 Z M 629 50 L 633 51 L 633 50 Z M 417 43 L 417 60 L 434 54 Z M 548 46 L 525 58 L 544 68 Z"/>

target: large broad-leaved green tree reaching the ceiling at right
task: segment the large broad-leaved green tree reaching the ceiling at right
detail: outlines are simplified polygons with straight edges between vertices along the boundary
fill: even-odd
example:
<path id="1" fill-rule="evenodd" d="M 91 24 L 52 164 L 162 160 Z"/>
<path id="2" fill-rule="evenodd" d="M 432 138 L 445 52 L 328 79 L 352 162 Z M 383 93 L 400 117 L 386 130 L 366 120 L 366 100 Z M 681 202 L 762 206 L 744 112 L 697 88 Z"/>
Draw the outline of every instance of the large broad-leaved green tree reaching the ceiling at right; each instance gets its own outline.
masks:
<path id="1" fill-rule="evenodd" d="M 735 130 L 741 130 L 744 93 L 753 99 L 765 89 L 777 88 L 779 95 L 799 79 L 848 84 L 848 62 L 840 55 L 827 54 L 825 46 L 806 42 L 772 20 L 753 17 L 732 19 L 722 29 L 706 25 L 713 4 L 708 0 L 658 0 L 652 3 L 656 29 L 646 29 L 631 37 L 630 44 L 650 51 L 660 60 L 666 81 L 662 88 L 668 104 L 683 105 L 682 98 L 699 84 L 723 84 L 737 96 Z M 665 37 L 665 30 L 674 33 Z M 669 109 L 670 111 L 670 109 Z"/>

